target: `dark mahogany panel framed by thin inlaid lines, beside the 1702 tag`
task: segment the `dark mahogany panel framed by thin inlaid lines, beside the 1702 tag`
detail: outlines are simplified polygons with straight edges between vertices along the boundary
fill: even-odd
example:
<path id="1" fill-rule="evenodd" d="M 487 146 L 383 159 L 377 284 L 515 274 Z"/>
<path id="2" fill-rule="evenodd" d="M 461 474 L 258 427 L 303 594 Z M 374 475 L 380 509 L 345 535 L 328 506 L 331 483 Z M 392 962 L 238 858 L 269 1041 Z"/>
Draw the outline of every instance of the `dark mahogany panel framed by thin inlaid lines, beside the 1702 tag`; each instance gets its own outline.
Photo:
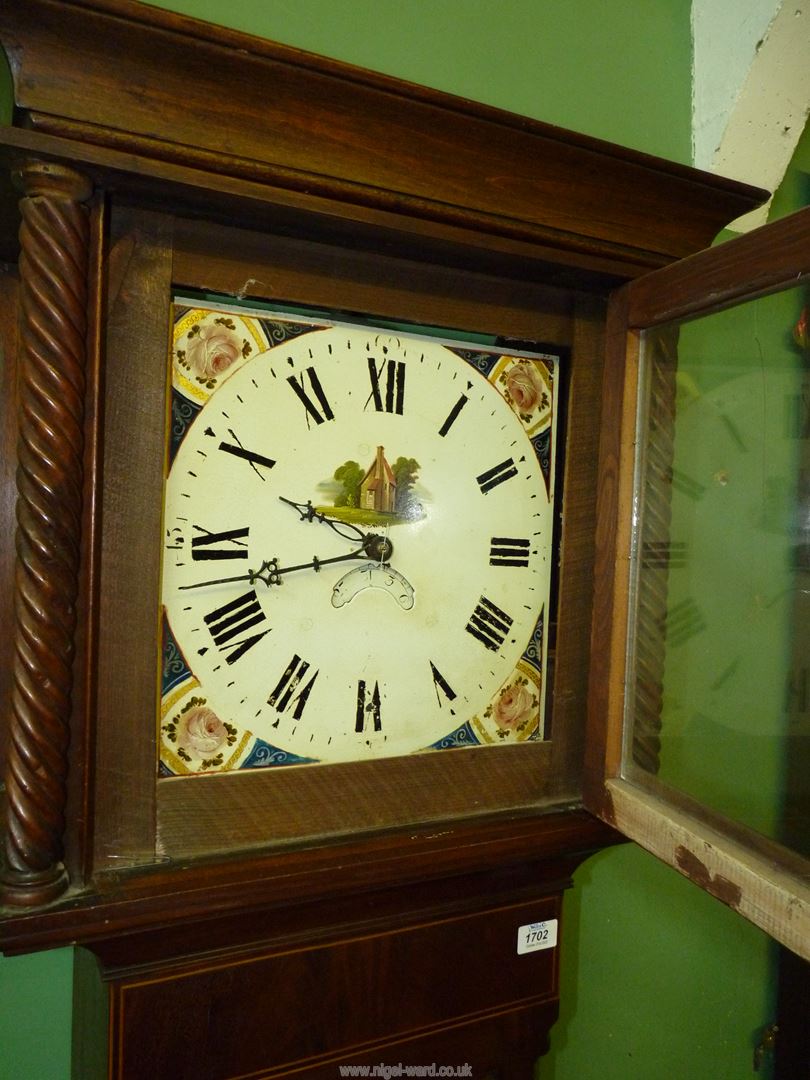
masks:
<path id="1" fill-rule="evenodd" d="M 117 978 L 111 1076 L 309 1075 L 400 1040 L 438 1047 L 445 1026 L 556 997 L 557 950 L 516 945 L 519 927 L 558 916 L 558 896 L 538 897 Z"/>

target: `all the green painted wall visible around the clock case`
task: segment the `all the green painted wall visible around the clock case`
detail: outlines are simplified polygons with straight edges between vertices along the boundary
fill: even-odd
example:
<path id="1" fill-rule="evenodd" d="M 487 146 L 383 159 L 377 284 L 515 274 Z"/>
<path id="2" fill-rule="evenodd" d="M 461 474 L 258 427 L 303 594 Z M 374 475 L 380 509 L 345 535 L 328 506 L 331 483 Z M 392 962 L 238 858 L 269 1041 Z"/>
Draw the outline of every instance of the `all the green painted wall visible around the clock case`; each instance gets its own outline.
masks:
<path id="1" fill-rule="evenodd" d="M 162 6 L 690 160 L 689 0 Z M 0 70 L 0 120 L 2 87 Z M 756 1035 L 771 1018 L 769 948 L 759 931 L 637 848 L 590 860 L 567 901 L 563 1009 L 539 1076 L 751 1076 Z M 0 1080 L 67 1080 L 70 1011 L 70 950 L 0 959 Z"/>

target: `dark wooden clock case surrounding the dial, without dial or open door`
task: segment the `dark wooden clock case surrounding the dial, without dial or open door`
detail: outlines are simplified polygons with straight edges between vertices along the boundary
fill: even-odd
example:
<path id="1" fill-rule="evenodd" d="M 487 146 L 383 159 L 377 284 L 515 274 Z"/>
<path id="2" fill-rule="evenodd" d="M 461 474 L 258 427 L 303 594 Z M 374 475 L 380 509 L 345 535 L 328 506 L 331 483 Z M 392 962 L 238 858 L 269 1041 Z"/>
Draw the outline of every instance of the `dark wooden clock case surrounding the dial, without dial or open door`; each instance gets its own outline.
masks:
<path id="1" fill-rule="evenodd" d="M 530 1076 L 557 953 L 516 928 L 618 838 L 582 809 L 606 299 L 764 193 L 129 0 L 6 0 L 0 39 L 0 946 L 85 947 L 83 1077 Z M 157 783 L 176 289 L 568 352 L 549 742 Z"/>

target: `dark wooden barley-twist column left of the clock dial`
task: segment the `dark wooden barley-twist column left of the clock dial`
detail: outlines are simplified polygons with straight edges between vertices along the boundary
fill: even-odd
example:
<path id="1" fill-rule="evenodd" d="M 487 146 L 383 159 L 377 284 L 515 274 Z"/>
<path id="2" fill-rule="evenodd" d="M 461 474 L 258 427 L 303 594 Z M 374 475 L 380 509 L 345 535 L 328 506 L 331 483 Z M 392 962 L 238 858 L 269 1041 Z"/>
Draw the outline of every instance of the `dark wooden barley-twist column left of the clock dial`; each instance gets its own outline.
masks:
<path id="1" fill-rule="evenodd" d="M 76 632 L 84 416 L 90 181 L 26 162 L 21 325 L 14 684 L 2 899 L 44 904 L 62 863 Z"/>

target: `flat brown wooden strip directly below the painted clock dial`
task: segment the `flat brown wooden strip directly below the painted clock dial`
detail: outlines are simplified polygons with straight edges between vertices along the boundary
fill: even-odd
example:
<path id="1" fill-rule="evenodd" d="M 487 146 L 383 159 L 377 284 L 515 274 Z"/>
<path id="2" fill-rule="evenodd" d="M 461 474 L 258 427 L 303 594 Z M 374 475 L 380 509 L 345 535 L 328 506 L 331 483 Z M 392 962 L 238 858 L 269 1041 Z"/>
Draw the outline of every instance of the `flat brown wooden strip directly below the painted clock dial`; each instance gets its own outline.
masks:
<path id="1" fill-rule="evenodd" d="M 549 810 L 562 801 L 548 794 L 551 758 L 549 743 L 527 743 L 161 780 L 157 853 L 199 858 L 307 837 L 446 823 L 471 811 Z"/>

